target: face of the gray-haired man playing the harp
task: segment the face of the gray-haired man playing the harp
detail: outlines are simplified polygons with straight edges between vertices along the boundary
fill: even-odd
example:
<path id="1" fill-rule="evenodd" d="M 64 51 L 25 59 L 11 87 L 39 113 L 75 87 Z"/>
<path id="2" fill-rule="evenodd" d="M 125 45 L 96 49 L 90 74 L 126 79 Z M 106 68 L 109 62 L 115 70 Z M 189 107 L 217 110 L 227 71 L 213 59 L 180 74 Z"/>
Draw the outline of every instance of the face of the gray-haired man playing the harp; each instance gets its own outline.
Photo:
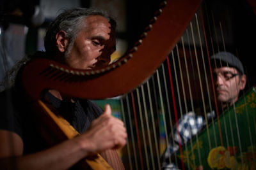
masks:
<path id="1" fill-rule="evenodd" d="M 92 69 L 109 64 L 113 43 L 109 42 L 111 25 L 102 16 L 92 15 L 84 20 L 66 63 L 77 69 Z M 111 45 L 109 45 L 111 44 Z"/>

